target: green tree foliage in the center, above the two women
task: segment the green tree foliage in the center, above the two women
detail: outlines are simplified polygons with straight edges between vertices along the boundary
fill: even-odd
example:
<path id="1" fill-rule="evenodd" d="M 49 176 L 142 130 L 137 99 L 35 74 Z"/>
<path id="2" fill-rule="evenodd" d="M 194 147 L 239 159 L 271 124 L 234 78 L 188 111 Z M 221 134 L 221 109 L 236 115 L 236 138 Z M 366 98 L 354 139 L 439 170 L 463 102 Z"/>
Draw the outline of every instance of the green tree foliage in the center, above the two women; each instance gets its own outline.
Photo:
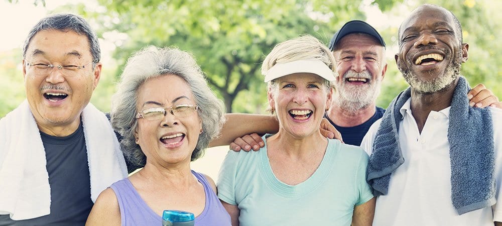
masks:
<path id="1" fill-rule="evenodd" d="M 343 3 L 343 12 L 353 15 L 359 1 Z M 227 111 L 257 112 L 263 109 L 266 86 L 261 62 L 279 42 L 313 35 L 327 43 L 333 32 L 321 20 L 334 7 L 308 1 L 100 1 L 107 15 L 88 14 L 103 30 L 127 33 L 129 40 L 117 48 L 121 61 L 149 45 L 177 46 L 192 52 L 213 90 L 224 100 Z M 347 7 L 349 6 L 349 9 Z M 89 12 L 82 9 L 82 13 Z M 116 23 L 106 23 L 115 21 Z M 117 71 L 120 73 L 120 71 Z M 234 106 L 233 103 L 237 105 Z M 258 110 L 258 112 L 262 112 Z"/>

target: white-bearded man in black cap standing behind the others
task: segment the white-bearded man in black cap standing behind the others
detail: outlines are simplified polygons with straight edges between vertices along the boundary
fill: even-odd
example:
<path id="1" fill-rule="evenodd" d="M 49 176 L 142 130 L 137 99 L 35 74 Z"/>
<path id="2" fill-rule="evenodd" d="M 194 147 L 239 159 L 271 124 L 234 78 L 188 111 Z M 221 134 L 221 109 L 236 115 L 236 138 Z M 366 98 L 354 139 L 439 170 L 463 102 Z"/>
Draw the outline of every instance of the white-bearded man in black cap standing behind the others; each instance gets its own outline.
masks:
<path id="1" fill-rule="evenodd" d="M 359 146 L 371 124 L 384 115 L 385 109 L 376 106 L 376 97 L 387 71 L 385 42 L 369 24 L 349 21 L 335 33 L 329 49 L 338 77 L 325 118 L 346 144 Z"/>

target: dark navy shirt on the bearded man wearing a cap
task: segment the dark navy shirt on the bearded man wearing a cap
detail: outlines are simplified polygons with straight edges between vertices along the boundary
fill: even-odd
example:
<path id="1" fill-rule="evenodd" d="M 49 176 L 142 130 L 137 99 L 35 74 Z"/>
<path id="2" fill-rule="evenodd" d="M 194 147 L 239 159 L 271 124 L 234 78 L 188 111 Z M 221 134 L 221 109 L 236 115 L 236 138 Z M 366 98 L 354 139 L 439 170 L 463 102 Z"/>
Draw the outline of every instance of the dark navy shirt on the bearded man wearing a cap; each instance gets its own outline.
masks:
<path id="1" fill-rule="evenodd" d="M 350 145 L 355 145 L 355 146 L 360 146 L 362 142 L 362 138 L 364 138 L 364 135 L 369 130 L 369 127 L 373 125 L 376 120 L 379 120 L 384 116 L 385 109 L 382 107 L 376 107 L 375 114 L 366 122 L 359 126 L 355 127 L 340 127 L 337 126 L 331 121 L 326 113 L 324 114 L 324 118 L 326 118 L 331 125 L 333 125 L 340 134 L 342 134 L 342 139 L 345 144 L 350 144 Z"/>

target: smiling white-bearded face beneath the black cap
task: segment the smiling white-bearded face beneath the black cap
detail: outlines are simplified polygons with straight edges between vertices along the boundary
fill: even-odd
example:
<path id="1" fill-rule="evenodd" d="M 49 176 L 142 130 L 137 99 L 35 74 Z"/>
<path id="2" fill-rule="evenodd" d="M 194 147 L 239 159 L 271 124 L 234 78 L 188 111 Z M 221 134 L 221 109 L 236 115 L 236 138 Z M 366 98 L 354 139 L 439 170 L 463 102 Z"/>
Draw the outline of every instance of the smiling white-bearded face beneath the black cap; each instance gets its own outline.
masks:
<path id="1" fill-rule="evenodd" d="M 348 111 L 358 111 L 374 103 L 387 70 L 385 48 L 367 34 L 348 34 L 333 51 L 336 90 L 333 103 Z"/>

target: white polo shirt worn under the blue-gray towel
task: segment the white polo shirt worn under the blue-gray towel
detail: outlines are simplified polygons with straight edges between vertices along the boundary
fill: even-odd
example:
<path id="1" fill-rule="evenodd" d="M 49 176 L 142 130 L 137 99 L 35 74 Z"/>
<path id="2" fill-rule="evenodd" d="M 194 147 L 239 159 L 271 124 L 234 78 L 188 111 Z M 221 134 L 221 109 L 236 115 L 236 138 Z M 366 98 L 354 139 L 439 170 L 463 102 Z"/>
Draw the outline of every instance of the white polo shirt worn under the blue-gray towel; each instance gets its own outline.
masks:
<path id="1" fill-rule="evenodd" d="M 486 207 L 458 215 L 451 201 L 450 145 L 447 132 L 450 107 L 431 111 L 420 134 L 410 108 L 400 109 L 399 143 L 405 162 L 391 175 L 387 195 L 376 199 L 373 225 L 491 225 L 502 221 L 502 208 Z M 502 109 L 489 107 L 493 119 L 497 203 L 502 201 Z M 371 155 L 376 131 L 370 128 L 361 147 Z"/>

